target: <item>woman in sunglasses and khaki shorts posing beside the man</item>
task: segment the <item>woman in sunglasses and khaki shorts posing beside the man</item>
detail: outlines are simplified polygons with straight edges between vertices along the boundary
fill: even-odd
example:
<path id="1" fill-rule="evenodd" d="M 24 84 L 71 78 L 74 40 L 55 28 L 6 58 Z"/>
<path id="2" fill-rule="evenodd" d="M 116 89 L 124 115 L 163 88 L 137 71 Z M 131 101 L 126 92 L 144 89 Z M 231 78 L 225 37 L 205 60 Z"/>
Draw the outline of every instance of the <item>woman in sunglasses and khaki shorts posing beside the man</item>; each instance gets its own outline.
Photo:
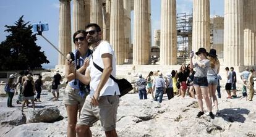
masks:
<path id="1" fill-rule="evenodd" d="M 84 74 L 87 69 L 92 50 L 88 48 L 88 43 L 85 38 L 85 30 L 78 30 L 73 35 L 73 42 L 75 43 L 75 51 L 67 54 L 67 59 L 74 62 L 74 69 L 77 72 Z M 63 102 L 67 110 L 67 136 L 76 136 L 75 125 L 77 123 L 77 112 L 83 107 L 85 97 L 88 95 L 88 86 L 84 85 L 81 81 L 75 78 L 75 73 L 72 73 L 69 68 L 69 60 L 66 61 L 66 90 L 63 96 Z"/>

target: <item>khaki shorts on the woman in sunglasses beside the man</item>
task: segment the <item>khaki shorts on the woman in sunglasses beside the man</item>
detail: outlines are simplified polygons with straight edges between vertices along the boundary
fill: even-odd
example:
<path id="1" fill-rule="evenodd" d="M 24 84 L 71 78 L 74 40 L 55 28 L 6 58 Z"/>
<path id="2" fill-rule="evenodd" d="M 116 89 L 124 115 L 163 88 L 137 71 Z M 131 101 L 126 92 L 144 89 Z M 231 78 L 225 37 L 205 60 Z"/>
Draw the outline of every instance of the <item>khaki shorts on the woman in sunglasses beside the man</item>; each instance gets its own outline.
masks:
<path id="1" fill-rule="evenodd" d="M 63 102 L 66 105 L 80 104 L 80 106 L 82 107 L 83 103 L 85 102 L 85 98 L 82 98 L 79 95 L 79 89 L 74 89 L 71 86 L 67 85 L 63 96 Z"/>

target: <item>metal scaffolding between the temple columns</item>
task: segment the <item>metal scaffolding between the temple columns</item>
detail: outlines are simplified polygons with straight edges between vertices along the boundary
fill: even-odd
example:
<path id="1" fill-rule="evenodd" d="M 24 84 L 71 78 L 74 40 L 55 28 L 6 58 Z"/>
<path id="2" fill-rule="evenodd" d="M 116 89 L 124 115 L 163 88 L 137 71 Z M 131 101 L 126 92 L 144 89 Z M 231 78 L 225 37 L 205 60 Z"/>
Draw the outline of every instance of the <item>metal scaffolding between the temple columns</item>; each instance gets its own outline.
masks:
<path id="1" fill-rule="evenodd" d="M 193 15 L 186 13 L 177 14 L 177 58 L 178 64 L 186 63 L 192 43 Z"/>

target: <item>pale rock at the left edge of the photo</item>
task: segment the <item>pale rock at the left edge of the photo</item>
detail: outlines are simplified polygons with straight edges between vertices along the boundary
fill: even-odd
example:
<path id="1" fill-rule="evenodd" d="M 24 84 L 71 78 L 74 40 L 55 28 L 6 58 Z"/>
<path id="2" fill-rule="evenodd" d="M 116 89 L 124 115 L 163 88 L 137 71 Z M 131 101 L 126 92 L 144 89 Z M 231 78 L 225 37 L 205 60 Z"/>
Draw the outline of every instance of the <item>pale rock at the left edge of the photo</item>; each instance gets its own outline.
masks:
<path id="1" fill-rule="evenodd" d="M 1 125 L 22 125 L 26 123 L 25 115 L 19 109 L 0 109 Z"/>

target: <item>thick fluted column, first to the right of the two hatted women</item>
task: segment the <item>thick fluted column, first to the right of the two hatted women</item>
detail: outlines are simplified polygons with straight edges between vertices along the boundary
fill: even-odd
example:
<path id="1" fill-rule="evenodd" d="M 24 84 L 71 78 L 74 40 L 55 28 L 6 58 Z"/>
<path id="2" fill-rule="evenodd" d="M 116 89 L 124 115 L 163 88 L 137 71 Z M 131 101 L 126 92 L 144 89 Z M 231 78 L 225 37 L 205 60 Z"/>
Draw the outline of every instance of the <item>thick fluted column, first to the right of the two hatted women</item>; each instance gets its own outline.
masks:
<path id="1" fill-rule="evenodd" d="M 243 1 L 224 1 L 224 64 L 244 65 Z"/>

